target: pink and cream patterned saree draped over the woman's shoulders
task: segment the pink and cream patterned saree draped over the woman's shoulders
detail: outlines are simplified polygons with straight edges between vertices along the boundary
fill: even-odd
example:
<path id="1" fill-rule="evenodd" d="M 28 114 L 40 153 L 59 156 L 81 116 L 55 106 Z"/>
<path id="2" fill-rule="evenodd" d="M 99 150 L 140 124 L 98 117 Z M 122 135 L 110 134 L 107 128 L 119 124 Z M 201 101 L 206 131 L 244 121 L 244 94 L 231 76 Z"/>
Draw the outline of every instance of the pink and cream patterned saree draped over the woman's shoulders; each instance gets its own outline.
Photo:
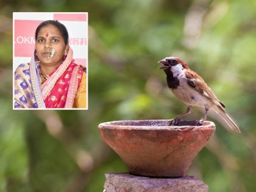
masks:
<path id="1" fill-rule="evenodd" d="M 85 79 L 84 68 L 74 63 L 73 50 L 69 48 L 63 62 L 48 79 L 43 81 L 42 76 L 40 61 L 35 53 L 30 63 L 18 66 L 15 71 L 14 107 L 72 108 L 79 85 Z"/>

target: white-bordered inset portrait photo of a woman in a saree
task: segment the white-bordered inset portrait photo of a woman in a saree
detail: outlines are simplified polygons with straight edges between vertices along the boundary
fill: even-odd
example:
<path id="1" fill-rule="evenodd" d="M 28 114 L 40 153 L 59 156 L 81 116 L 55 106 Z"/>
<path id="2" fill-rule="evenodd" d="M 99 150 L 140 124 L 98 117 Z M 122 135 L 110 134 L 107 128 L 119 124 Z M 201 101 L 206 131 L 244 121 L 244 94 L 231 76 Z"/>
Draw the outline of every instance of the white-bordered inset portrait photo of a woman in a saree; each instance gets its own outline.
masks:
<path id="1" fill-rule="evenodd" d="M 13 13 L 13 109 L 88 109 L 88 13 Z"/>

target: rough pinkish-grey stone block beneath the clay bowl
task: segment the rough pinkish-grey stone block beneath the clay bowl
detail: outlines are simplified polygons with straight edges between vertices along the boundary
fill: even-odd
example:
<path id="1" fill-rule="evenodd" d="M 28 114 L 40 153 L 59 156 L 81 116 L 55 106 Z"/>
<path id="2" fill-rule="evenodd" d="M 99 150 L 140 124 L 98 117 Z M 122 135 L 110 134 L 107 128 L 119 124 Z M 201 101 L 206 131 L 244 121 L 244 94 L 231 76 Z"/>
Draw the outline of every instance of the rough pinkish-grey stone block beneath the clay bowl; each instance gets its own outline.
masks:
<path id="1" fill-rule="evenodd" d="M 152 178 L 107 173 L 105 177 L 104 192 L 208 192 L 208 186 L 202 180 L 190 176 Z"/>

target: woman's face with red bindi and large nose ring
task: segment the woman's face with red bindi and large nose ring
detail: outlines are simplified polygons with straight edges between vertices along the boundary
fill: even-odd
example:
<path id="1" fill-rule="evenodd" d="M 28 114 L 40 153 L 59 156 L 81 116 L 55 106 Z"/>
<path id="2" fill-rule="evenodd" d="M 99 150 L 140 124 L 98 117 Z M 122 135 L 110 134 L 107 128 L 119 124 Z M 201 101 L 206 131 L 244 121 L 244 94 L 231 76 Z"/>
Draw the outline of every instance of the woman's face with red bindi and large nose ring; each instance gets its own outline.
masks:
<path id="1" fill-rule="evenodd" d="M 37 57 L 42 65 L 59 65 L 63 55 L 68 52 L 68 44 L 65 46 L 64 38 L 60 30 L 49 24 L 41 27 L 35 42 Z"/>

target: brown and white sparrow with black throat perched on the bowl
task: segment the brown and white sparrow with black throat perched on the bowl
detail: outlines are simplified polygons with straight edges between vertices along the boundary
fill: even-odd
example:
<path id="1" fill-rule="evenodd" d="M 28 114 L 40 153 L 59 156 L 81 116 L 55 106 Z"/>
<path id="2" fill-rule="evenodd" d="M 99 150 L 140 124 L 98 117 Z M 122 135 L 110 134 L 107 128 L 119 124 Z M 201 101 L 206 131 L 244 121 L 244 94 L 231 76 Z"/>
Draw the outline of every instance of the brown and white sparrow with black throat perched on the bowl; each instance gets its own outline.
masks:
<path id="1" fill-rule="evenodd" d="M 235 132 L 241 132 L 239 127 L 226 113 L 226 106 L 219 101 L 213 91 L 196 72 L 188 68 L 188 65 L 178 57 L 165 57 L 158 63 L 163 65 L 160 69 L 166 74 L 166 80 L 172 93 L 187 105 L 187 111 L 172 119 L 172 125 L 177 125 L 185 115 L 192 112 L 192 106 L 204 107 L 204 117 L 197 119 L 197 124 L 202 124 L 207 119 L 207 113 L 211 109 L 218 113 Z"/>

